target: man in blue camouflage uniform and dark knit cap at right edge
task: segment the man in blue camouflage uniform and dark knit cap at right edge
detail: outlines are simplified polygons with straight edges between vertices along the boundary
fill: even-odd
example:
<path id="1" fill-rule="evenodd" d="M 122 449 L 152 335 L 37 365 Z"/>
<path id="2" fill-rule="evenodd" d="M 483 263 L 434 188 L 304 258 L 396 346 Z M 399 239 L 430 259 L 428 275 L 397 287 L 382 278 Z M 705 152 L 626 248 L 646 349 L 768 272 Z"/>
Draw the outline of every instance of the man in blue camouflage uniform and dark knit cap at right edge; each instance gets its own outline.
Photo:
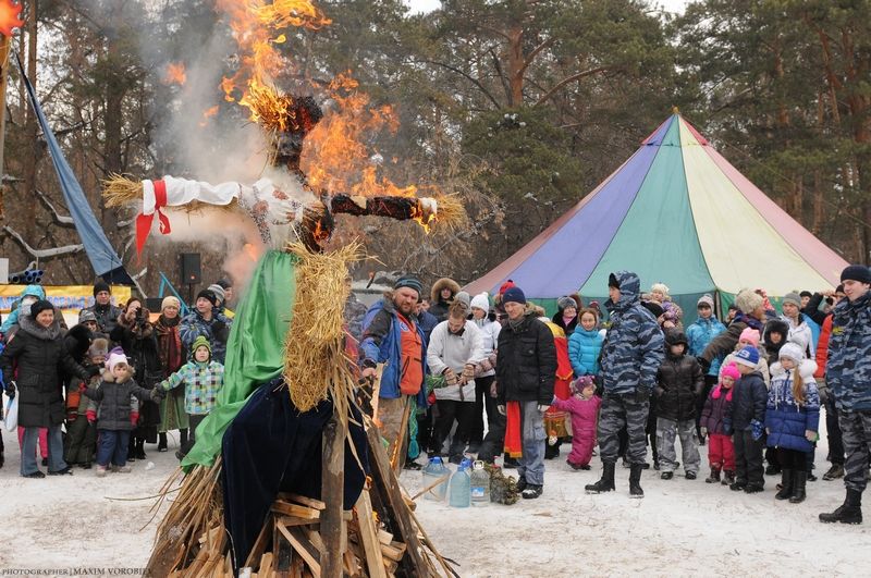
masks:
<path id="1" fill-rule="evenodd" d="M 841 273 L 841 282 L 847 298 L 832 315 L 825 381 L 835 395 L 844 436 L 847 497 L 831 514 L 820 514 L 820 521 L 861 524 L 871 450 L 871 271 L 851 265 Z"/>

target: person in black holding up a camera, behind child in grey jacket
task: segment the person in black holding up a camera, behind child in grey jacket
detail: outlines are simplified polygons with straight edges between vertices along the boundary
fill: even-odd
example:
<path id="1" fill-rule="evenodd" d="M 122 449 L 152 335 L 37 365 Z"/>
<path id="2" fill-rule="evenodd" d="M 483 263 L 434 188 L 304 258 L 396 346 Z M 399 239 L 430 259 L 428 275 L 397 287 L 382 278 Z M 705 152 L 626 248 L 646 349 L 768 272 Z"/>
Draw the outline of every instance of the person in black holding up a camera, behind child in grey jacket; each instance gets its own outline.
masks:
<path id="1" fill-rule="evenodd" d="M 148 309 L 143 302 L 131 297 L 118 318 L 118 325 L 109 339 L 124 349 L 134 370 L 136 383 L 151 390 L 163 379 L 163 368 L 157 348 L 157 336 Z M 139 419 L 130 435 L 128 462 L 145 459 L 145 443 L 157 443 L 160 406 L 148 399 L 139 406 Z"/>

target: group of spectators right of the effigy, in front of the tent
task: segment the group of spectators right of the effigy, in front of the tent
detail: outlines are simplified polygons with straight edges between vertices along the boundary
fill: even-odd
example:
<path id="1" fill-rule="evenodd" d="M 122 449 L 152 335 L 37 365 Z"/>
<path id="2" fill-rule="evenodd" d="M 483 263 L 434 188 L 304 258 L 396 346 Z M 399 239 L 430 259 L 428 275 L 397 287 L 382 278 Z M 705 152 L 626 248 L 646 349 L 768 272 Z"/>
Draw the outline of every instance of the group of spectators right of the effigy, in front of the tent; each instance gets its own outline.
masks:
<path id="1" fill-rule="evenodd" d="M 598 447 L 591 494 L 615 490 L 622 460 L 629 494 L 643 496 L 649 456 L 663 480 L 680 468 L 695 480 L 707 446 L 706 482 L 758 493 L 766 475 L 780 475 L 775 497 L 800 503 L 817 480 L 824 408 L 823 479 L 844 478 L 847 492 L 820 520 L 857 524 L 871 450 L 871 272 L 850 266 L 841 281 L 785 295 L 781 312 L 763 290 L 744 290 L 722 321 L 702 295 L 685 329 L 668 287 L 642 294 L 628 271 L 609 279 L 606 320 L 578 295 L 547 317 L 512 281 L 491 304 L 449 279 L 427 298 L 406 275 L 356 325 L 360 367 L 380 376 L 377 417 L 406 468 L 419 469 L 422 452 L 502 459 L 517 468 L 525 499 L 542 494 L 545 460 L 571 443 L 566 462 L 578 470 L 591 468 Z"/>

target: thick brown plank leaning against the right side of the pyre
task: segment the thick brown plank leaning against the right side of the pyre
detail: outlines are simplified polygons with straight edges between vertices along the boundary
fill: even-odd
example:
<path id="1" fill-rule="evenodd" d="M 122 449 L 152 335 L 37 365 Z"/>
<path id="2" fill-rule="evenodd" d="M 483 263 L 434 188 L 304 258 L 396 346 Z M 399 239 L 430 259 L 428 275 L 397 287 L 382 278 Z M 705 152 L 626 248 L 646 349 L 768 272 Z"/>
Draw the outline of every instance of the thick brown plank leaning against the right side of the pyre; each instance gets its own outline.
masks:
<path id="1" fill-rule="evenodd" d="M 381 445 L 378 429 L 373 427 L 366 428 L 366 436 L 369 442 L 369 456 L 372 458 L 370 462 L 373 466 L 372 480 L 382 493 L 385 501 L 384 505 L 389 507 L 394 518 L 396 524 L 394 530 L 398 530 L 398 538 L 407 545 L 406 553 L 410 561 L 409 574 L 414 576 L 430 576 L 432 573 L 424 554 L 420 540 L 417 538 L 417 527 L 412 521 L 412 513 L 403 500 L 400 482 L 393 474 L 390 460 Z"/>

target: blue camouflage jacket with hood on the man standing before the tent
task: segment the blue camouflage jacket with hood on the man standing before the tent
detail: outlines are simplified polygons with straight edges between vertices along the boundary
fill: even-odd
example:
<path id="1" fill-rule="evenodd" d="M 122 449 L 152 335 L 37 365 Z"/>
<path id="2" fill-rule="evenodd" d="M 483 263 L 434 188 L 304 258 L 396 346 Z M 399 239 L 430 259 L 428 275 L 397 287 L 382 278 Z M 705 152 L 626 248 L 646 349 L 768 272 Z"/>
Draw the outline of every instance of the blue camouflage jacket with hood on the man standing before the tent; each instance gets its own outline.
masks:
<path id="1" fill-rule="evenodd" d="M 602 345 L 601 383 L 612 394 L 653 391 L 657 370 L 665 357 L 665 337 L 653 315 L 641 306 L 638 275 L 617 271 L 619 299 L 605 302 L 611 328 Z"/>

